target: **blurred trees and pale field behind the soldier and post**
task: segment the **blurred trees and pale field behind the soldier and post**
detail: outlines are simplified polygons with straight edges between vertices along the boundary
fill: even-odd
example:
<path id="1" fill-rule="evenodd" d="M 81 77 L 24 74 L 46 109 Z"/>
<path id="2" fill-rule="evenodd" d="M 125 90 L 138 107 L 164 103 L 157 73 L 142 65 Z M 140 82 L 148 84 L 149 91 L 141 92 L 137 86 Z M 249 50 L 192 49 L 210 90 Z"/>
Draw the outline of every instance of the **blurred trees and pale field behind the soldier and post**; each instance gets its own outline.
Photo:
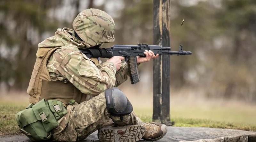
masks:
<path id="1" fill-rule="evenodd" d="M 87 8 L 115 21 L 116 41 L 103 47 L 153 44 L 153 0 L 1 0 L 2 101 L 28 103 L 38 43 L 57 28 L 72 28 Z M 172 50 L 179 44 L 193 54 L 171 56 L 171 118 L 256 124 L 256 1 L 171 0 Z M 152 117 L 153 61 L 139 70 L 139 83 L 119 88 L 141 117 Z"/>

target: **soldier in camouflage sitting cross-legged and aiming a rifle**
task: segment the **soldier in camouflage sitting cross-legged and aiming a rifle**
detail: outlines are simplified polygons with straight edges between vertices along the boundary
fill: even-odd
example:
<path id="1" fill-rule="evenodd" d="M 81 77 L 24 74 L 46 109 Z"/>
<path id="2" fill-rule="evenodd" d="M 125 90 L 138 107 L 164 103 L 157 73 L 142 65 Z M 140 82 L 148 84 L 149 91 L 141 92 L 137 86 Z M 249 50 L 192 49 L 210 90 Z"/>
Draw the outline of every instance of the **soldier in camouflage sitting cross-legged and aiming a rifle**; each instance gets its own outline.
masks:
<path id="1" fill-rule="evenodd" d="M 100 141 L 158 140 L 167 127 L 159 123 L 143 123 L 119 86 L 128 78 L 124 57 L 114 56 L 102 63 L 88 58 L 79 49 L 100 48 L 113 42 L 115 23 L 106 12 L 86 9 L 78 14 L 73 28 L 58 29 L 55 35 L 39 43 L 37 59 L 27 93 L 35 104 L 43 98 L 63 102 L 67 114 L 54 128 L 54 141 L 79 141 L 98 130 Z M 152 51 L 137 62 L 158 57 Z M 69 100 L 75 100 L 72 102 Z"/>

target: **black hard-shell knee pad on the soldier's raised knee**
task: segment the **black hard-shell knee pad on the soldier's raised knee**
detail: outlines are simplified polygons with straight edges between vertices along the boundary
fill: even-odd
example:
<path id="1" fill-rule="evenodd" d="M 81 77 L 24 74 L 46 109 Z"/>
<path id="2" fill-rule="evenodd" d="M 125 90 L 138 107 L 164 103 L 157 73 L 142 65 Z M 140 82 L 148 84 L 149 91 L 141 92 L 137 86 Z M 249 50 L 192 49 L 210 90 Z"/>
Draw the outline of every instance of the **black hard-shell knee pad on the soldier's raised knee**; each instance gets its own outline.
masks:
<path id="1" fill-rule="evenodd" d="M 106 104 L 108 112 L 112 116 L 123 116 L 132 112 L 132 104 L 126 98 L 125 94 L 118 88 L 105 90 Z"/>

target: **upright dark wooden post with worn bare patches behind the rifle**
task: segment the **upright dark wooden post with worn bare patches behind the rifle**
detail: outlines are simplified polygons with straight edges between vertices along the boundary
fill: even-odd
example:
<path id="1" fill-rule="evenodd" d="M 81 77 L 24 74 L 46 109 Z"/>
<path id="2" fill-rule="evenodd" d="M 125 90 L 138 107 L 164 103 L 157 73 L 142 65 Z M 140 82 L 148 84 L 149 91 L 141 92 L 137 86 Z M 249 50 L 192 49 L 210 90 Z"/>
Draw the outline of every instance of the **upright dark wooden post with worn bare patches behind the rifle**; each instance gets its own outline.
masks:
<path id="1" fill-rule="evenodd" d="M 154 0 L 154 45 L 170 47 L 170 1 Z M 153 121 L 170 122 L 170 56 L 154 60 Z"/>

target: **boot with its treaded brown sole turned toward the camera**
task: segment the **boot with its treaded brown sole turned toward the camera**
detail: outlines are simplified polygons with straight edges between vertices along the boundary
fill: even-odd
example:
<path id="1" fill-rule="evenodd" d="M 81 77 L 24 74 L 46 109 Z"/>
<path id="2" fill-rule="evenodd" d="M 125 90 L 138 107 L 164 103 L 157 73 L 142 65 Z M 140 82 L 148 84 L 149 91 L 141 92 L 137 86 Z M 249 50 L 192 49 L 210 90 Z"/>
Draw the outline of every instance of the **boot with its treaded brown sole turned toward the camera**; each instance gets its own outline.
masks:
<path id="1" fill-rule="evenodd" d="M 103 128 L 98 132 L 98 138 L 102 142 L 137 142 L 144 134 L 142 125 L 127 125 L 122 128 Z"/>

